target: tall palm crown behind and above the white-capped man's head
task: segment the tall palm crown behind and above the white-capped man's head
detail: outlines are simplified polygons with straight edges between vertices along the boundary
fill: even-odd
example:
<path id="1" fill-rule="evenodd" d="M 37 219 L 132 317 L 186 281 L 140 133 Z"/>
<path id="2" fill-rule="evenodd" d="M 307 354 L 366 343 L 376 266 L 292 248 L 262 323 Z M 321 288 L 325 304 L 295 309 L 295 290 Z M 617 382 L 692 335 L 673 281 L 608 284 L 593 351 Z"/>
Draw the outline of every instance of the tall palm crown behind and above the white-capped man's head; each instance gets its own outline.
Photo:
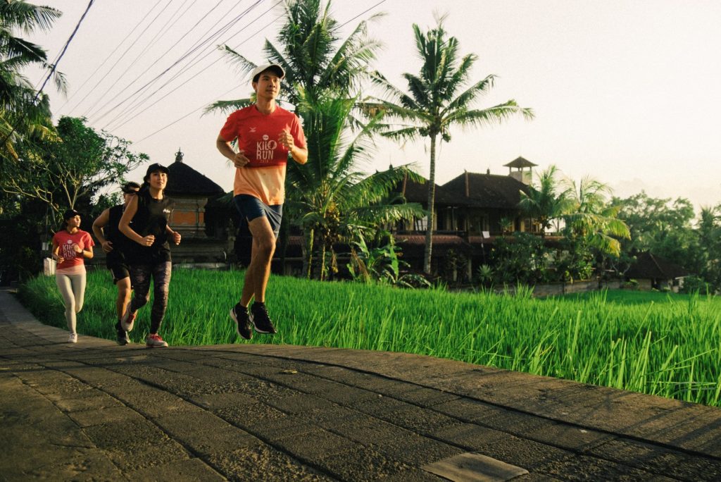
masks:
<path id="1" fill-rule="evenodd" d="M 368 38 L 368 22 L 359 23 L 345 40 L 340 37 L 338 22 L 330 14 L 331 1 L 286 0 L 286 22 L 278 34 L 280 47 L 265 40 L 265 59 L 278 63 L 286 71 L 280 100 L 297 106 L 301 97 L 309 103 L 325 95 L 353 97 L 361 80 L 368 74 L 368 62 L 376 58 L 381 44 Z M 379 15 L 371 17 L 375 19 Z M 228 45 L 227 58 L 242 74 L 257 66 Z M 265 62 L 264 62 L 265 63 Z M 227 112 L 242 108 L 251 99 L 220 100 L 206 112 Z M 307 128 L 306 128 L 307 131 Z"/>

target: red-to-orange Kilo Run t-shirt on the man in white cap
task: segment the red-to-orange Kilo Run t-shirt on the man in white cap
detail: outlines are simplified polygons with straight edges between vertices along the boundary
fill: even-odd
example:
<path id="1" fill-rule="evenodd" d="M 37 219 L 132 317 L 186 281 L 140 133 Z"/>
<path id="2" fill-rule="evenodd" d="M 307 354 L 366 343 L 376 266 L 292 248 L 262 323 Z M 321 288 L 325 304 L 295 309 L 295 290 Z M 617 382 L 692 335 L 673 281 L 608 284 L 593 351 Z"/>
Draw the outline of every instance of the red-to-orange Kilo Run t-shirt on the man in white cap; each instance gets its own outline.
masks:
<path id="1" fill-rule="evenodd" d="M 288 163 L 288 149 L 278 143 L 283 131 L 291 133 L 296 146 L 305 148 L 303 128 L 298 117 L 288 110 L 276 106 L 273 113 L 263 114 L 250 105 L 228 116 L 221 138 L 227 142 L 238 139 L 238 149 L 250 160 L 247 166 L 236 167 L 235 196 L 255 196 L 268 206 L 283 203 Z"/>

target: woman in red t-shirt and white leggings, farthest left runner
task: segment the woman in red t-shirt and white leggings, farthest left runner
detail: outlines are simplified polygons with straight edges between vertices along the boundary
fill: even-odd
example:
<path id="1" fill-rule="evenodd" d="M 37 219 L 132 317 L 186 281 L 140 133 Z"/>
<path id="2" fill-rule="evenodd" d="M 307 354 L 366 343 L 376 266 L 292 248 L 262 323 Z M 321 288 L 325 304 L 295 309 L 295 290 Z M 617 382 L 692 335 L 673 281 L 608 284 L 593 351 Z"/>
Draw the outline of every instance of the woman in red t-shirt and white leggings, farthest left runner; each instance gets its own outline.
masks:
<path id="1" fill-rule="evenodd" d="M 53 236 L 53 258 L 58 261 L 55 280 L 65 303 L 65 320 L 70 330 L 68 343 L 77 343 L 76 314 L 83 309 L 85 298 L 84 260 L 93 257 L 95 243 L 87 231 L 80 229 L 78 211 L 65 211 L 63 224 L 63 229 Z"/>

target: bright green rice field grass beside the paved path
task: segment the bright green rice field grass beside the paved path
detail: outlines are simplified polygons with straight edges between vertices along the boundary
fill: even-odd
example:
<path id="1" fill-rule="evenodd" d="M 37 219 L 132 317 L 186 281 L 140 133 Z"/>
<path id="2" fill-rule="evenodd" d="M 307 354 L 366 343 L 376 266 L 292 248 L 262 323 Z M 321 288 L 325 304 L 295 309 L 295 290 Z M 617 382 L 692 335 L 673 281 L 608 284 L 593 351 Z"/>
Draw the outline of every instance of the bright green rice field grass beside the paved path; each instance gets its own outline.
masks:
<path id="1" fill-rule="evenodd" d="M 288 343 L 402 351 L 721 406 L 721 300 L 611 291 L 534 299 L 321 283 L 272 276 L 267 292 L 279 333 L 239 341 L 228 310 L 242 271 L 173 272 L 161 328 L 173 345 Z M 43 322 L 65 326 L 55 280 L 20 289 Z M 88 273 L 78 330 L 114 339 L 115 286 Z M 149 328 L 138 315 L 134 341 Z M 142 337 L 142 338 L 141 338 Z"/>

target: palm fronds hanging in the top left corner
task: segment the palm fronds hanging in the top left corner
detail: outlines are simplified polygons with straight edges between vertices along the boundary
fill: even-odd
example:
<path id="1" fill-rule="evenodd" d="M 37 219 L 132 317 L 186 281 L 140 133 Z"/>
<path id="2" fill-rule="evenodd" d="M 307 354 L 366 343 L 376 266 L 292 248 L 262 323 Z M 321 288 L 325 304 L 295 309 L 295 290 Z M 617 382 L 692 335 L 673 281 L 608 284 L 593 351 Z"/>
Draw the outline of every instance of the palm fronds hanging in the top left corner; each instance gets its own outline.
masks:
<path id="1" fill-rule="evenodd" d="M 42 47 L 16 35 L 20 30 L 50 30 L 61 12 L 26 1 L 0 2 L 0 162 L 17 162 L 20 141 L 30 143 L 53 136 L 50 105 L 22 74 L 27 66 L 53 69 Z M 63 74 L 53 74 L 56 87 L 65 92 Z"/>

